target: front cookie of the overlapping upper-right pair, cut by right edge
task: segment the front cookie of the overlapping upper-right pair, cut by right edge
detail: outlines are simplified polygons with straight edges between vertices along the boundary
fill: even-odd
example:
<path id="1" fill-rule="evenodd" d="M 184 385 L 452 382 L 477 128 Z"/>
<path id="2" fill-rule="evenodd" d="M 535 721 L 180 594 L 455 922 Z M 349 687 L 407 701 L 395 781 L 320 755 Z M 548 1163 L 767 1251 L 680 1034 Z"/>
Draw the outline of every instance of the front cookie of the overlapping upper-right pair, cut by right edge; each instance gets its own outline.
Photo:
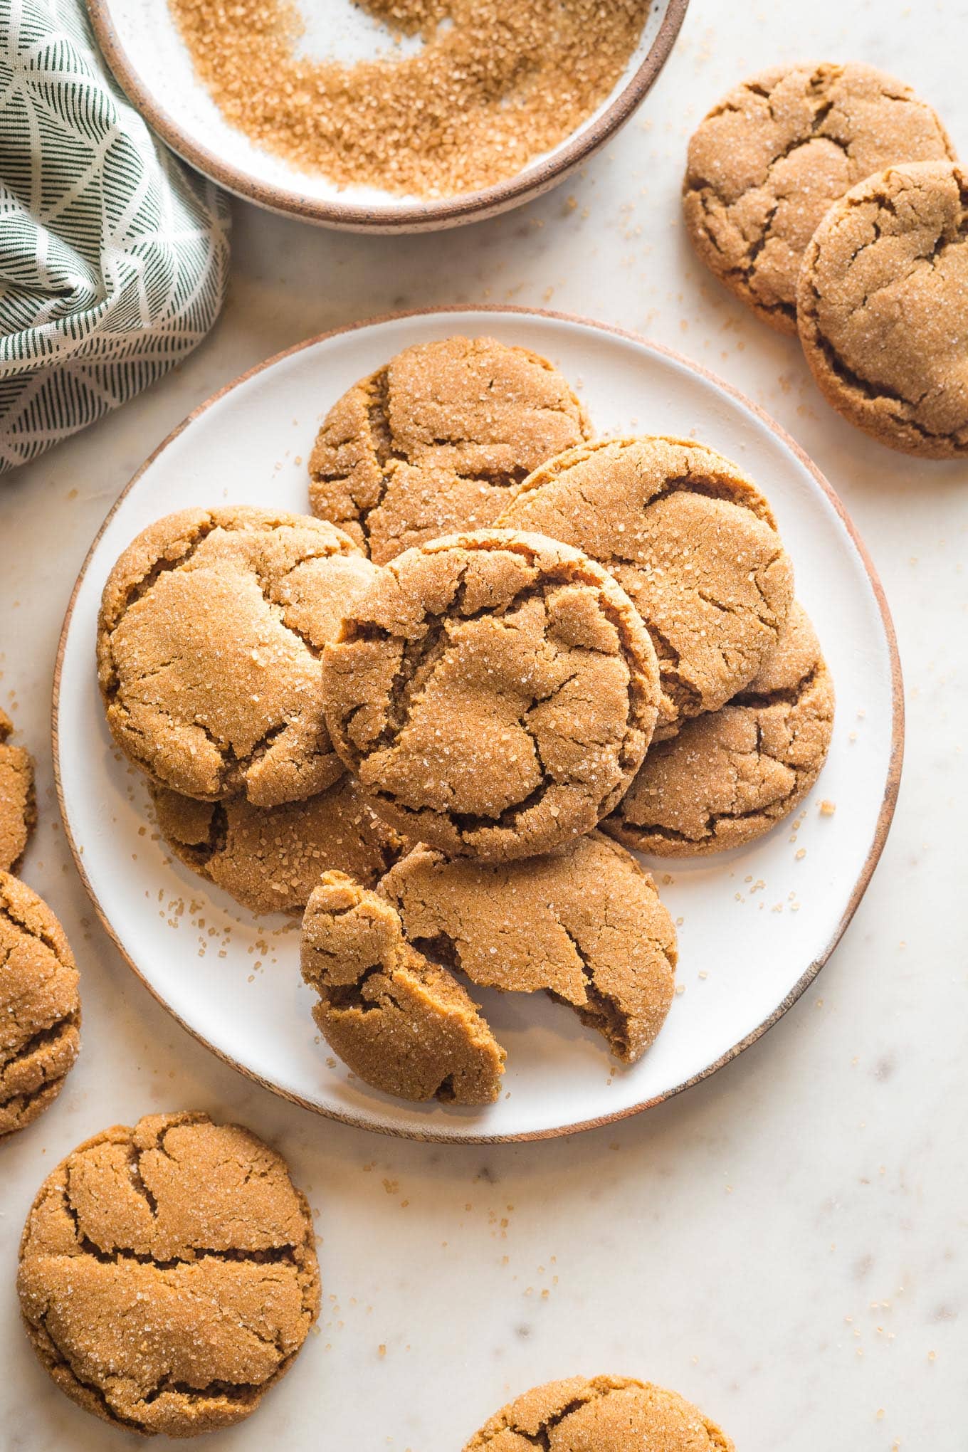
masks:
<path id="1" fill-rule="evenodd" d="M 888 167 L 807 248 L 800 341 L 829 404 L 879 443 L 968 457 L 968 173 Z"/>

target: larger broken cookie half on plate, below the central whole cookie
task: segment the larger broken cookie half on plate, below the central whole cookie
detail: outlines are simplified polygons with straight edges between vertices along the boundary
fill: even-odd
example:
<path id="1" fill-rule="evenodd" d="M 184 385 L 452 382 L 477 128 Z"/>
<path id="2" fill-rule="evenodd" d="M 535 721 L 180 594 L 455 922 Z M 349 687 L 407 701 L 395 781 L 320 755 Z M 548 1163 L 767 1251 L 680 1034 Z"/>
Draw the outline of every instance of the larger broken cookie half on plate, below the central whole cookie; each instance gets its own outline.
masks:
<path id="1" fill-rule="evenodd" d="M 518 862 L 417 847 L 380 894 L 411 945 L 482 987 L 544 989 L 634 1063 L 672 1003 L 676 934 L 656 886 L 601 832 Z"/>

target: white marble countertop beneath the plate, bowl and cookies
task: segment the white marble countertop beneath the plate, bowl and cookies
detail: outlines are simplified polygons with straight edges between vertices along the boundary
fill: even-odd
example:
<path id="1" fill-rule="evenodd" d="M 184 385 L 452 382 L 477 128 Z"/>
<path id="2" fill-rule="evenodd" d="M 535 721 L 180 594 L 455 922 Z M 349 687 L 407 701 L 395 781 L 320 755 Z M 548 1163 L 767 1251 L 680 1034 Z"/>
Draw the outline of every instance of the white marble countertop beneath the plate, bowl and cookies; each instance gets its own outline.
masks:
<path id="1" fill-rule="evenodd" d="M 0 484 L 0 701 L 39 770 L 41 825 L 23 876 L 67 929 L 84 1002 L 83 1053 L 58 1104 L 0 1151 L 3 1452 L 125 1445 L 35 1363 L 17 1327 L 17 1239 L 41 1179 L 78 1140 L 187 1106 L 277 1144 L 321 1236 L 318 1331 L 219 1448 L 457 1452 L 509 1395 L 610 1371 L 675 1387 L 740 1452 L 964 1452 L 968 466 L 919 463 L 836 418 L 797 341 L 760 327 L 694 260 L 678 190 L 701 115 L 736 80 L 784 60 L 856 58 L 903 76 L 968 154 L 968 93 L 951 60 L 967 32 L 959 0 L 692 0 L 639 115 L 537 203 L 456 232 L 358 238 L 239 202 L 212 337 L 148 393 Z M 49 697 L 87 546 L 190 408 L 312 333 L 460 302 L 636 328 L 789 430 L 881 572 L 906 675 L 907 755 L 894 829 L 852 926 L 763 1040 L 623 1124 L 453 1149 L 298 1109 L 221 1064 L 154 1002 L 71 864 Z"/>

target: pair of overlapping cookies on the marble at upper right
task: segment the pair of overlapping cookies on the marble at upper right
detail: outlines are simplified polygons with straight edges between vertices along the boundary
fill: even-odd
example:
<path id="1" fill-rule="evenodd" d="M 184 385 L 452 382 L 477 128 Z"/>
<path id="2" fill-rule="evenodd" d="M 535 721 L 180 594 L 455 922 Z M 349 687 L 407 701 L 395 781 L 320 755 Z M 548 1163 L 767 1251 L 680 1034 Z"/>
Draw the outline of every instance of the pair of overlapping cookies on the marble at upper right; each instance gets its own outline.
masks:
<path id="1" fill-rule="evenodd" d="M 908 86 L 856 64 L 743 81 L 689 142 L 684 206 L 702 261 L 800 334 L 845 418 L 968 456 L 968 174 Z"/>

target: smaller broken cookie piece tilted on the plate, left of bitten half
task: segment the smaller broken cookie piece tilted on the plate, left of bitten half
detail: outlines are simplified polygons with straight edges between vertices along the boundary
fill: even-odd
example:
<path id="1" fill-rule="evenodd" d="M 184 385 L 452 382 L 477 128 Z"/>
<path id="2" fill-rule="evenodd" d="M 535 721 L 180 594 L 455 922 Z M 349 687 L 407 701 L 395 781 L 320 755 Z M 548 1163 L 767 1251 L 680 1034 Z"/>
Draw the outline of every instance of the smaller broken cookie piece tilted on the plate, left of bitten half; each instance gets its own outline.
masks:
<path id="1" fill-rule="evenodd" d="M 348 1067 L 401 1099 L 491 1104 L 504 1050 L 477 1005 L 409 947 L 395 909 L 344 873 L 325 873 L 302 921 L 312 1011 Z"/>

